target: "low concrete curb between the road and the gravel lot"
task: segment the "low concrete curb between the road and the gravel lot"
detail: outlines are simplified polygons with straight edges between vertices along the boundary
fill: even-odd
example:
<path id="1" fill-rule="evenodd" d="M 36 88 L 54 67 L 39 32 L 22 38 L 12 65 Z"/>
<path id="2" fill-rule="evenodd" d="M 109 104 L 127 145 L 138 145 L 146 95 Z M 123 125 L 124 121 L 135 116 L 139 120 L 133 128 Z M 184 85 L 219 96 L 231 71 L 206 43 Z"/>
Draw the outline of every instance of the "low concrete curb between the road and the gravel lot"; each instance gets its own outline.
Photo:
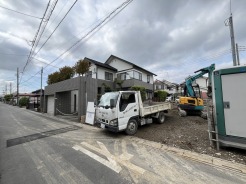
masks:
<path id="1" fill-rule="evenodd" d="M 171 146 L 167 146 L 165 144 L 161 144 L 158 142 L 148 141 L 137 137 L 130 137 L 131 141 L 137 142 L 139 144 L 142 144 L 144 146 L 152 147 L 154 149 L 159 149 L 167 152 L 174 153 L 176 155 L 182 156 L 184 158 L 188 158 L 194 161 L 198 161 L 207 165 L 213 165 L 219 168 L 227 169 L 233 172 L 246 174 L 246 165 L 239 164 L 239 163 L 233 163 L 227 160 L 223 160 L 220 158 L 212 157 L 205 154 L 195 153 L 192 151 L 175 148 Z"/>

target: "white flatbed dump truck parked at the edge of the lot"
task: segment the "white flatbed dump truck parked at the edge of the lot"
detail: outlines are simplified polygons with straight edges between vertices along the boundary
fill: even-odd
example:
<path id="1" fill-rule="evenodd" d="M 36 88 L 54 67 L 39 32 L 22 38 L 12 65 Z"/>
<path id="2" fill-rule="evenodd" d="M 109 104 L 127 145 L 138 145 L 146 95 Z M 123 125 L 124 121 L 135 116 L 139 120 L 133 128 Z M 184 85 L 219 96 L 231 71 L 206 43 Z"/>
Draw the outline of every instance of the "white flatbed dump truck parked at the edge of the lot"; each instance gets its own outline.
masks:
<path id="1" fill-rule="evenodd" d="M 108 92 L 96 105 L 96 122 L 101 124 L 101 128 L 133 135 L 139 125 L 150 124 L 153 119 L 164 123 L 164 113 L 169 109 L 170 102 L 144 106 L 139 91 Z"/>

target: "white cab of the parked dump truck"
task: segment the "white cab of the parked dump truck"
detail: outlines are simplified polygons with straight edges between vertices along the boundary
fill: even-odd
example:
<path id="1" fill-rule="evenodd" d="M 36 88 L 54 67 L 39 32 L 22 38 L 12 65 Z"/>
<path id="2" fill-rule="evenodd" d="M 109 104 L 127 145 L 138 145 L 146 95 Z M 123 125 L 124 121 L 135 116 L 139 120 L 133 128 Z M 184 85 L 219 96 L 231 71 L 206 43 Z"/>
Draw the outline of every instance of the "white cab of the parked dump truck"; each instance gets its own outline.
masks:
<path id="1" fill-rule="evenodd" d="M 138 118 L 138 104 L 136 91 L 105 93 L 96 107 L 96 121 L 111 131 L 125 130 L 130 118 Z"/>

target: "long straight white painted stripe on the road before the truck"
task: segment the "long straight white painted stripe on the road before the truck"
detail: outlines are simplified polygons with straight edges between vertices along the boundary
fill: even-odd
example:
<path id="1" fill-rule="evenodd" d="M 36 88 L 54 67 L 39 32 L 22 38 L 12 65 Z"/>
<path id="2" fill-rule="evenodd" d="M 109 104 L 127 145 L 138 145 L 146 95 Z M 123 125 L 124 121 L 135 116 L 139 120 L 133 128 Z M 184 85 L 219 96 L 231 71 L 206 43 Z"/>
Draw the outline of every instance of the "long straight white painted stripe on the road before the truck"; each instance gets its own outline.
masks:
<path id="1" fill-rule="evenodd" d="M 100 162 L 101 164 L 103 164 L 103 165 L 107 166 L 108 168 L 112 169 L 116 173 L 120 173 L 120 171 L 122 170 L 122 168 L 120 166 L 117 166 L 114 163 L 112 163 L 110 161 L 107 161 L 104 158 L 99 157 L 98 155 L 88 151 L 87 149 L 84 149 L 81 146 L 75 145 L 75 146 L 73 146 L 73 149 L 83 152 L 84 154 L 88 155 L 89 157 L 95 159 L 96 161 Z"/>

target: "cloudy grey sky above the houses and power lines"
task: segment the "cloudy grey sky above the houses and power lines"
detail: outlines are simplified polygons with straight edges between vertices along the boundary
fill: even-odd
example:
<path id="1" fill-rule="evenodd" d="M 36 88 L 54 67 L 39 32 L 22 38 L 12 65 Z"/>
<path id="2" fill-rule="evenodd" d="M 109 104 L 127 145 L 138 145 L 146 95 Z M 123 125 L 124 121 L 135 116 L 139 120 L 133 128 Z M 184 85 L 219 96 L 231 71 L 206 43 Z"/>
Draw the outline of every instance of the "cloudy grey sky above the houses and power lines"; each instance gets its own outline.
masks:
<path id="1" fill-rule="evenodd" d="M 231 13 L 240 63 L 246 64 L 245 0 L 133 0 L 116 9 L 125 1 L 59 0 L 54 7 L 51 0 L 47 20 L 41 18 L 48 0 L 0 0 L 0 95 L 6 86 L 8 94 L 17 90 L 17 68 L 19 92 L 28 93 L 40 89 L 42 67 L 44 88 L 49 74 L 84 57 L 104 63 L 115 55 L 178 84 L 212 63 L 231 67 L 225 25 Z M 41 21 L 40 30 L 46 27 L 32 47 Z"/>

